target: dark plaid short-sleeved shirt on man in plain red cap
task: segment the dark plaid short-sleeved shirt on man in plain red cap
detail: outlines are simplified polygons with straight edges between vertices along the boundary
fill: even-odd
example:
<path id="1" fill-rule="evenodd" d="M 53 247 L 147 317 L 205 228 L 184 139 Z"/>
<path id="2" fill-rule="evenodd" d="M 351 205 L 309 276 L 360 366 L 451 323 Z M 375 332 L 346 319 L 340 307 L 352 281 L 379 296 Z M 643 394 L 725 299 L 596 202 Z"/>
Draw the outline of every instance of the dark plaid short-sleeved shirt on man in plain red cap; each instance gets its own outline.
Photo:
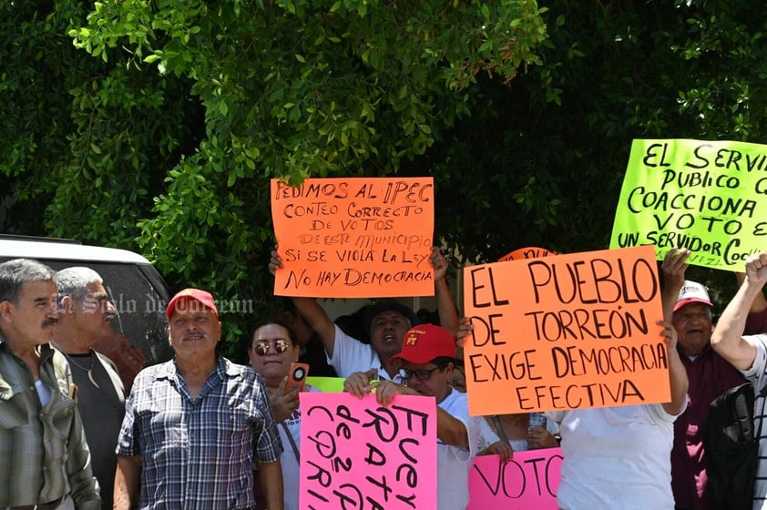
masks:
<path id="1" fill-rule="evenodd" d="M 140 508 L 230 510 L 256 505 L 254 455 L 282 444 L 261 375 L 220 357 L 194 400 L 175 361 L 139 372 L 117 453 L 141 456 Z"/>

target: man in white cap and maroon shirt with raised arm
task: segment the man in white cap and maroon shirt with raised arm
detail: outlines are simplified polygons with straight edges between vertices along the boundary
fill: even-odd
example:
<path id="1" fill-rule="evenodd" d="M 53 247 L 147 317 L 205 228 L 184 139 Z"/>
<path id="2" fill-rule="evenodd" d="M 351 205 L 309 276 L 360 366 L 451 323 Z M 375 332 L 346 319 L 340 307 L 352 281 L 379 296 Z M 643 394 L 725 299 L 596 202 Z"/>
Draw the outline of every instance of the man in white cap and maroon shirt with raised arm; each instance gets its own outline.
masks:
<path id="1" fill-rule="evenodd" d="M 689 250 L 672 249 L 661 266 L 663 299 L 674 302 L 671 323 L 679 336 L 677 350 L 690 380 L 687 409 L 674 422 L 671 450 L 671 487 L 678 510 L 713 505 L 707 489 L 703 428 L 711 402 L 745 382 L 741 372 L 711 349 L 713 305 L 705 285 L 684 279 L 689 257 Z"/>

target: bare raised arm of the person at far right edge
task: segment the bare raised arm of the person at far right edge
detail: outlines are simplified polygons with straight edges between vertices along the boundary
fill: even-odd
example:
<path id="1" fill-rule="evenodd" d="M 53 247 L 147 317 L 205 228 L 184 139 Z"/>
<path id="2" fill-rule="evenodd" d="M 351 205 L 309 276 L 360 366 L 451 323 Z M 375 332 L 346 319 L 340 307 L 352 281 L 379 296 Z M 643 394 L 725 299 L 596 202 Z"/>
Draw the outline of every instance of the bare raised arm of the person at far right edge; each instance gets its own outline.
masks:
<path id="1" fill-rule="evenodd" d="M 748 370 L 756 358 L 756 347 L 743 338 L 743 329 L 752 302 L 767 281 L 767 252 L 757 253 L 746 261 L 746 278 L 711 335 L 711 347 L 739 370 Z"/>

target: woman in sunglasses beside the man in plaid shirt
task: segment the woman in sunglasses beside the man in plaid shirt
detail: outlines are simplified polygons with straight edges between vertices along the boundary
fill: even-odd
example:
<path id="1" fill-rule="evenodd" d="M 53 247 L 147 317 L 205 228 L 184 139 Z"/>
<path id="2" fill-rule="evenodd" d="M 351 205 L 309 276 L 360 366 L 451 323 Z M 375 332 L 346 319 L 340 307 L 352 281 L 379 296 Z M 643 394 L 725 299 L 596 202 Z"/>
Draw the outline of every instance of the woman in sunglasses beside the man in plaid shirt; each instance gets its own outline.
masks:
<path id="1" fill-rule="evenodd" d="M 293 342 L 291 327 L 283 321 L 262 321 L 253 329 L 248 357 L 253 370 L 259 372 L 269 391 L 271 412 L 279 423 L 282 441 L 282 484 L 284 510 L 298 510 L 299 497 L 299 445 L 301 444 L 301 411 L 298 389 L 285 392 L 290 379 L 291 363 L 298 361 L 300 347 Z M 306 392 L 318 392 L 306 385 Z M 258 499 L 258 490 L 257 499 Z M 262 506 L 260 508 L 263 508 Z"/>

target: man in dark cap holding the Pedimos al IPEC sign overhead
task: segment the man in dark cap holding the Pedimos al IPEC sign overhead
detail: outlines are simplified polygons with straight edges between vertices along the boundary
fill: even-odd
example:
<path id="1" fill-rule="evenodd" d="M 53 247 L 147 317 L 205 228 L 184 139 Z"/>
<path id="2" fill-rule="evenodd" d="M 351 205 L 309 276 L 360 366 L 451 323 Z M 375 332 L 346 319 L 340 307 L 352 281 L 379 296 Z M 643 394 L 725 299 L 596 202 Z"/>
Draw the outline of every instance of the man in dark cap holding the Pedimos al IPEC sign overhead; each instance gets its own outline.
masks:
<path id="1" fill-rule="evenodd" d="M 434 248 L 430 261 L 435 268 L 435 296 L 440 321 L 451 334 L 455 334 L 458 312 L 445 281 L 447 260 L 439 249 Z M 269 263 L 271 274 L 281 267 L 280 255 L 272 251 Z M 394 300 L 373 305 L 364 317 L 365 329 L 370 333 L 370 344 L 367 344 L 345 334 L 316 300 L 298 297 L 292 300 L 296 310 L 320 335 L 328 360 L 339 376 L 373 369 L 380 379 L 401 382 L 397 375 L 398 365 L 390 359 L 402 349 L 404 333 L 418 323 L 413 310 Z M 455 342 L 453 349 L 455 351 Z"/>

